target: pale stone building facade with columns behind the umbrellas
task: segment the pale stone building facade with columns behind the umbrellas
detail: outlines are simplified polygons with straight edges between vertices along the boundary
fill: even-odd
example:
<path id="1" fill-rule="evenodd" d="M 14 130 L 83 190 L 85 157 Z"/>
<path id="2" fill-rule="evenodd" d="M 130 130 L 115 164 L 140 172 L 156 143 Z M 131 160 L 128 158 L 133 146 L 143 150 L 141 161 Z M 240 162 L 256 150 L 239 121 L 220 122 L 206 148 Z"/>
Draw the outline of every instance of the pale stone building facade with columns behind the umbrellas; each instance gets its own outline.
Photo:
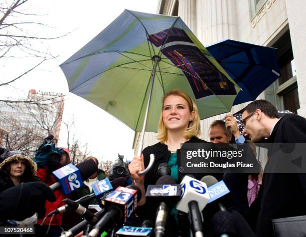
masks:
<path id="1" fill-rule="evenodd" d="M 157 6 L 159 14 L 180 16 L 204 46 L 229 38 L 278 48 L 281 77 L 258 99 L 306 117 L 304 12 L 304 0 L 159 0 Z M 246 105 L 233 106 L 231 112 Z M 208 140 L 211 122 L 224 115 L 201 121 L 203 139 Z M 145 134 L 144 147 L 155 142 L 154 133 Z"/>

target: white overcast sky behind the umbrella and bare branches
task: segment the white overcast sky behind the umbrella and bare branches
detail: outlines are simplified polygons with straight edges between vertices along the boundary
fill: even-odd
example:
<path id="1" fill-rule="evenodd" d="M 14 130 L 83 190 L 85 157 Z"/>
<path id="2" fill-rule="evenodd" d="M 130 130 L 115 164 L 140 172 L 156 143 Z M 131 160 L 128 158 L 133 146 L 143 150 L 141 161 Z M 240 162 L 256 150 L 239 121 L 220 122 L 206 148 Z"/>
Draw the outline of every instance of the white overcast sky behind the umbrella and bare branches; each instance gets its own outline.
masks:
<path id="1" fill-rule="evenodd" d="M 68 94 L 66 79 L 58 65 L 102 31 L 124 9 L 156 13 L 157 2 L 158 0 L 29 0 L 24 5 L 26 12 L 38 14 L 33 16 L 32 20 L 50 26 L 32 26 L 31 30 L 36 30 L 37 36 L 71 33 L 59 39 L 44 41 L 43 44 L 32 45 L 37 50 L 42 48 L 58 57 L 45 62 L 10 86 L 1 87 L 0 98 L 25 96 L 31 88 Z M 20 18 L 20 21 L 23 20 L 25 19 Z M 0 61 L 0 81 L 7 81 L 26 71 L 35 62 L 31 58 Z M 82 143 L 88 143 L 92 155 L 115 159 L 119 152 L 129 159 L 132 158 L 134 132 L 114 117 L 91 103 L 68 94 L 63 120 L 67 121 L 72 116 L 76 117 L 78 136 L 81 137 Z M 60 138 L 62 139 L 58 145 L 61 146 L 64 144 L 64 131 Z"/>

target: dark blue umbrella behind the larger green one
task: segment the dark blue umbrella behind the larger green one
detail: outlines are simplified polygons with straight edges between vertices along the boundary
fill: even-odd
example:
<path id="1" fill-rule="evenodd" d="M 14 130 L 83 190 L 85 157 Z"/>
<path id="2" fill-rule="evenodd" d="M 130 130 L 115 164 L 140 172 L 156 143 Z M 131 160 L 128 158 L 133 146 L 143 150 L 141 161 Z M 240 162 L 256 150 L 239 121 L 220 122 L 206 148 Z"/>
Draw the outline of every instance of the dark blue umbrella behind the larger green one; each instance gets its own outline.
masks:
<path id="1" fill-rule="evenodd" d="M 206 49 L 242 89 L 233 105 L 255 100 L 280 76 L 276 48 L 226 39 Z"/>

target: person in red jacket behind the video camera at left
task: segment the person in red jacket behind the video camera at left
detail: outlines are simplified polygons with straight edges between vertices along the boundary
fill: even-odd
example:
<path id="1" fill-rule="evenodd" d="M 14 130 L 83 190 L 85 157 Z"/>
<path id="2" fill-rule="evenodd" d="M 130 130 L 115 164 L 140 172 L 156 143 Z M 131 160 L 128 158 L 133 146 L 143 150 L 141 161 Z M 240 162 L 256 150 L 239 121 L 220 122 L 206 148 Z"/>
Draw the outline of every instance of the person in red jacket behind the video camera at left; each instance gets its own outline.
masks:
<path id="1" fill-rule="evenodd" d="M 69 151 L 66 148 L 63 149 L 63 154 L 61 154 L 59 164 L 56 167 L 44 167 L 44 168 L 38 168 L 36 176 L 40 179 L 41 182 L 45 183 L 46 185 L 50 186 L 56 182 L 52 171 L 59 169 L 62 166 L 65 166 L 70 162 L 70 155 Z M 63 199 L 66 199 L 68 196 L 64 195 L 60 190 L 56 190 L 54 192 L 54 195 L 56 197 L 56 201 L 53 203 L 50 203 L 49 201 L 45 202 L 45 216 L 48 215 L 51 211 L 55 210 L 58 207 L 61 207 L 62 205 L 65 205 L 64 202 L 62 202 Z M 62 224 L 62 214 L 57 214 L 55 216 L 48 217 L 44 220 L 39 219 L 37 221 L 37 224 L 42 226 L 39 228 L 39 236 L 46 236 L 46 237 L 58 237 L 61 234 L 61 224 Z M 43 222 L 43 223 L 42 223 Z"/>

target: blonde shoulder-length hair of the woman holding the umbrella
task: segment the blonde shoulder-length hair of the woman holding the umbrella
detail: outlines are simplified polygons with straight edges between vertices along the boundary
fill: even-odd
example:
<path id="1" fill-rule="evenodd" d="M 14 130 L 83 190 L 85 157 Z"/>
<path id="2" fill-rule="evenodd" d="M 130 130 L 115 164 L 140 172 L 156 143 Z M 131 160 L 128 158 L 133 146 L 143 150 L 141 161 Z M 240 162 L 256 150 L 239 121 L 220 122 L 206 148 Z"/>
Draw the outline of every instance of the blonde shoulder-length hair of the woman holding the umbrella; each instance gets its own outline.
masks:
<path id="1" fill-rule="evenodd" d="M 182 98 L 184 98 L 187 101 L 189 112 L 194 111 L 194 119 L 189 122 L 188 127 L 186 131 L 184 132 L 184 138 L 185 139 L 190 139 L 191 137 L 194 136 L 199 136 L 201 134 L 201 129 L 200 129 L 200 119 L 198 115 L 198 110 L 196 107 L 196 104 L 192 101 L 192 99 L 183 91 L 178 90 L 178 89 L 173 89 L 169 90 L 163 97 L 162 97 L 162 108 L 161 108 L 161 113 L 158 121 L 158 135 L 157 139 L 161 142 L 164 143 L 167 138 L 167 128 L 164 126 L 164 123 L 162 121 L 162 110 L 163 110 L 163 103 L 164 100 L 170 96 L 170 95 L 177 95 Z"/>

